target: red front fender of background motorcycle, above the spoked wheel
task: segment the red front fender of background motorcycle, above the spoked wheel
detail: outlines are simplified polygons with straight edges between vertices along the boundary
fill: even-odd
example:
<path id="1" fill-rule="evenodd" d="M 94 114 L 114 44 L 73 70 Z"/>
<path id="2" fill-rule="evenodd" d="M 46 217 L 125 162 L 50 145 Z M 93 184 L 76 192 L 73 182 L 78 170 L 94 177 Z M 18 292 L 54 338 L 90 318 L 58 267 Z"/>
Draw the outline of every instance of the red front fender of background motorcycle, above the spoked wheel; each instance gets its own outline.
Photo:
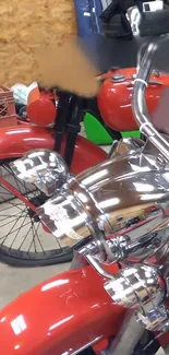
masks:
<path id="1" fill-rule="evenodd" d="M 64 145 L 65 141 L 62 151 Z M 35 149 L 52 150 L 53 146 L 53 132 L 45 128 L 19 125 L 0 129 L 0 159 L 21 157 L 25 152 Z M 76 175 L 104 162 L 106 157 L 107 154 L 99 146 L 83 137 L 77 137 L 71 173 Z"/>

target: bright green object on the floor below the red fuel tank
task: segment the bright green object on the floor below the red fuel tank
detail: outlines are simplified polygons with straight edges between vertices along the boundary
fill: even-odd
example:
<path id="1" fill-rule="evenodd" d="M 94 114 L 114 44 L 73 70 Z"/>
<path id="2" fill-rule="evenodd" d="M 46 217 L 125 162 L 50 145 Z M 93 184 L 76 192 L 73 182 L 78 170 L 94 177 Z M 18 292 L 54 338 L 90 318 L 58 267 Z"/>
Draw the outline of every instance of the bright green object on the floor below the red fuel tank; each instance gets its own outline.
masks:
<path id="1" fill-rule="evenodd" d="M 112 138 L 106 131 L 106 129 L 101 126 L 101 123 L 90 114 L 86 114 L 84 118 L 84 128 L 86 132 L 86 137 L 89 141 L 100 144 L 100 145 L 109 145 L 112 143 Z M 140 138 L 140 131 L 133 132 L 122 132 L 122 137 L 134 137 Z"/>

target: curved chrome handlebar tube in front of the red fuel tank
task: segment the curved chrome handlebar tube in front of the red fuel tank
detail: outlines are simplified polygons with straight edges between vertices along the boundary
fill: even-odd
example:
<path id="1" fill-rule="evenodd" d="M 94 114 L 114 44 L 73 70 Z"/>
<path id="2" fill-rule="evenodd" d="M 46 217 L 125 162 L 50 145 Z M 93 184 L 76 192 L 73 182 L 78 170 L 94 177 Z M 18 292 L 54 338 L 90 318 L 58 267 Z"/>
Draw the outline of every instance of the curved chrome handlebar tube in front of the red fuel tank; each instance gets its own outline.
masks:
<path id="1" fill-rule="evenodd" d="M 167 140 L 155 129 L 147 113 L 145 103 L 145 90 L 148 85 L 149 75 L 153 68 L 154 55 L 157 51 L 159 44 L 168 40 L 167 35 L 160 36 L 152 42 L 140 63 L 136 79 L 134 81 L 134 90 L 132 97 L 133 115 L 140 126 L 140 131 L 145 134 L 149 141 L 157 147 L 159 154 L 169 159 L 169 143 Z"/>

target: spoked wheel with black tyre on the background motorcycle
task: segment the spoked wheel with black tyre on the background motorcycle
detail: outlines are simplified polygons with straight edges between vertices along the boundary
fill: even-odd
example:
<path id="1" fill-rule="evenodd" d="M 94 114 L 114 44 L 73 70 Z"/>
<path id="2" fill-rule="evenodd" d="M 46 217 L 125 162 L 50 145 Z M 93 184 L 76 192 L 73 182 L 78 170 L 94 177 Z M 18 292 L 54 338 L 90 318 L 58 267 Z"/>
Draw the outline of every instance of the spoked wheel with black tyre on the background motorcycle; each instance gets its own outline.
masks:
<path id="1" fill-rule="evenodd" d="M 73 250 L 45 229 L 36 214 L 46 197 L 17 179 L 9 163 L 0 164 L 0 261 L 17 267 L 71 261 Z"/>

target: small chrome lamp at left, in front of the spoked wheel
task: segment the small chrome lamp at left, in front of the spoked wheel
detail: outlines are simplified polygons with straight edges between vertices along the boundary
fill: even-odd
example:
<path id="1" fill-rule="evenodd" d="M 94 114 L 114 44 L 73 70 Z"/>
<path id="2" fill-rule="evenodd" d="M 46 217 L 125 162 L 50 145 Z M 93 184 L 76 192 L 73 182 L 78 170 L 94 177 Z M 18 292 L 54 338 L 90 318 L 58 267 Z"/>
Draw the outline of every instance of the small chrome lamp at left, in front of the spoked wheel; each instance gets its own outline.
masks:
<path id="1" fill-rule="evenodd" d="M 61 188 L 69 176 L 63 158 L 49 150 L 31 151 L 10 165 L 17 178 L 35 184 L 48 197 Z"/>

